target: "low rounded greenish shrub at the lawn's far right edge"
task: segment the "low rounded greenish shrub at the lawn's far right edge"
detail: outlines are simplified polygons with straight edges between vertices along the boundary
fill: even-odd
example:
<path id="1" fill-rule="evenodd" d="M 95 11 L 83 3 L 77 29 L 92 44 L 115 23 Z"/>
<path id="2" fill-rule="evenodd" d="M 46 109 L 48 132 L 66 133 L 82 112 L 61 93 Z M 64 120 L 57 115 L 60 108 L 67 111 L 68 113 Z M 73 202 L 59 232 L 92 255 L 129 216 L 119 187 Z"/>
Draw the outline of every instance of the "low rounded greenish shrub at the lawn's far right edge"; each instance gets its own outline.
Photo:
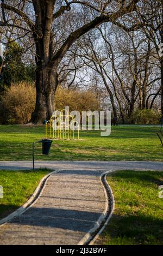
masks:
<path id="1" fill-rule="evenodd" d="M 153 109 L 137 110 L 134 112 L 132 119 L 135 124 L 158 124 L 160 114 Z"/>

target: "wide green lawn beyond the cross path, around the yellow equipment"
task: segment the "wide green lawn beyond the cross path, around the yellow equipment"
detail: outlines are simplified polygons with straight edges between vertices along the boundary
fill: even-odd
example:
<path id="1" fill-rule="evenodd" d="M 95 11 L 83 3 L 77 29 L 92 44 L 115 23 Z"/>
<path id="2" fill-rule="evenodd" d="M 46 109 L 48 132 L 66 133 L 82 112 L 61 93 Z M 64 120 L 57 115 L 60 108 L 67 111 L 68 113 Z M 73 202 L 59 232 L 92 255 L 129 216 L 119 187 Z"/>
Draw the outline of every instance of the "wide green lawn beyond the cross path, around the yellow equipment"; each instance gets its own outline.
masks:
<path id="1" fill-rule="evenodd" d="M 81 140 L 54 141 L 49 156 L 42 156 L 40 148 L 36 148 L 36 159 L 162 161 L 158 129 L 118 126 L 112 127 L 107 137 L 101 137 L 100 131 L 81 131 Z M 0 160 L 31 160 L 32 142 L 42 138 L 45 138 L 43 126 L 0 126 Z"/>

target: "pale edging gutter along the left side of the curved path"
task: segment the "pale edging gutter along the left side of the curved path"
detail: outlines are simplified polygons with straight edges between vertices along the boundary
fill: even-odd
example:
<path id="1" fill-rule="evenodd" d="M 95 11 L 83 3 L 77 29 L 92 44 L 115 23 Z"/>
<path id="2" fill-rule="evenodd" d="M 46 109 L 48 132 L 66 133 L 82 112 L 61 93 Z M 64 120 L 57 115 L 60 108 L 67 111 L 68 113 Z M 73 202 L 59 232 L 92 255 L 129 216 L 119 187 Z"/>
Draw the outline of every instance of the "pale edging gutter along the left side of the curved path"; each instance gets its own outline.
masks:
<path id="1" fill-rule="evenodd" d="M 39 182 L 39 185 L 36 187 L 33 195 L 29 198 L 29 200 L 23 204 L 20 208 L 18 208 L 16 211 L 12 212 L 10 215 L 8 215 L 7 217 L 3 218 L 0 220 L 0 227 L 2 225 L 4 225 L 6 222 L 10 221 L 12 218 L 17 217 L 18 215 L 21 215 L 23 212 L 27 211 L 27 209 L 32 206 L 33 204 L 36 203 L 36 201 L 40 198 L 46 182 L 49 178 L 49 176 L 51 176 L 52 174 L 56 174 L 57 172 L 60 172 L 61 170 L 56 170 L 56 171 L 52 171 L 49 174 L 47 174 L 46 176 L 44 176 L 41 181 Z M 45 184 L 43 185 L 43 188 L 41 189 L 42 184 L 45 182 Z M 41 191 L 40 191 L 41 189 Z M 40 193 L 39 193 L 40 192 Z"/>

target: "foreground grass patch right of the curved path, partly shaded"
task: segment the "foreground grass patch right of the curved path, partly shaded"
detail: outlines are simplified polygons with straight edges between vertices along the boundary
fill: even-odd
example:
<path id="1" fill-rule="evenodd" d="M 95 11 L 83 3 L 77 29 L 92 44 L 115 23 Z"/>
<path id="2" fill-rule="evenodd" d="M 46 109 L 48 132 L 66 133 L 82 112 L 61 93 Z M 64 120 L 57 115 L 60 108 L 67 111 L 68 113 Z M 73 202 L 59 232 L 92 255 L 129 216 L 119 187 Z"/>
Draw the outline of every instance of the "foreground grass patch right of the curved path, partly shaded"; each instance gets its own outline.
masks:
<path id="1" fill-rule="evenodd" d="M 162 245 L 163 172 L 118 171 L 108 176 L 115 211 L 99 237 L 100 245 Z"/>

